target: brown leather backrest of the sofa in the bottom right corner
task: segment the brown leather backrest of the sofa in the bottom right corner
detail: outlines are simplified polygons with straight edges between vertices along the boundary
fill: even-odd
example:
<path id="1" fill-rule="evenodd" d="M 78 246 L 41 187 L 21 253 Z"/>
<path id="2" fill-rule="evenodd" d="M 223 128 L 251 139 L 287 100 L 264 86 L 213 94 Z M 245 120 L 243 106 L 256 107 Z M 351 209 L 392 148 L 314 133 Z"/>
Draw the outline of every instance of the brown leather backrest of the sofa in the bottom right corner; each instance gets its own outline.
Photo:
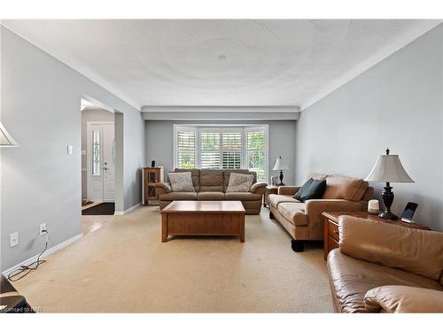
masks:
<path id="1" fill-rule="evenodd" d="M 440 281 L 443 233 L 345 215 L 338 232 L 340 251 L 348 256 Z"/>

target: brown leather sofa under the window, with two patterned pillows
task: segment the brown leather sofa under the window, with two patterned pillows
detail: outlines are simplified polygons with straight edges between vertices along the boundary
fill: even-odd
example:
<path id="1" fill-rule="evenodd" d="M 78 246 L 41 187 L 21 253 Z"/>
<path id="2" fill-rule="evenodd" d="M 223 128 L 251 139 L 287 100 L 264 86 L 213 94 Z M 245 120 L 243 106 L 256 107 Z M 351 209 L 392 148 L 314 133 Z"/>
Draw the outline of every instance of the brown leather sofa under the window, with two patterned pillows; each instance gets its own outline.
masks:
<path id="1" fill-rule="evenodd" d="M 165 208 L 172 201 L 177 200 L 199 200 L 218 201 L 230 200 L 241 201 L 245 207 L 246 214 L 259 214 L 262 197 L 265 193 L 267 183 L 257 183 L 257 174 L 247 169 L 181 169 L 175 168 L 174 172 L 190 172 L 195 192 L 173 191 L 168 182 L 156 183 L 155 190 L 159 197 L 160 209 Z M 253 186 L 249 192 L 226 192 L 231 173 L 253 174 Z"/>

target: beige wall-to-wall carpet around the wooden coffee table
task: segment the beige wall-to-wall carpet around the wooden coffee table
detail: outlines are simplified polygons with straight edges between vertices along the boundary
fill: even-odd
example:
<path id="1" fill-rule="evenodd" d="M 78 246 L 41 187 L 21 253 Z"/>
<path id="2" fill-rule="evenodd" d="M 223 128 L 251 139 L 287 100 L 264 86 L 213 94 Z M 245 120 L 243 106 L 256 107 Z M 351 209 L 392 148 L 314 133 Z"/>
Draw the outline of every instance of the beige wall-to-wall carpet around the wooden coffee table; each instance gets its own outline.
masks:
<path id="1" fill-rule="evenodd" d="M 102 227 L 14 286 L 43 313 L 331 312 L 321 247 L 291 251 L 278 223 L 246 216 L 237 237 L 160 242 L 158 207 L 88 216 Z"/>

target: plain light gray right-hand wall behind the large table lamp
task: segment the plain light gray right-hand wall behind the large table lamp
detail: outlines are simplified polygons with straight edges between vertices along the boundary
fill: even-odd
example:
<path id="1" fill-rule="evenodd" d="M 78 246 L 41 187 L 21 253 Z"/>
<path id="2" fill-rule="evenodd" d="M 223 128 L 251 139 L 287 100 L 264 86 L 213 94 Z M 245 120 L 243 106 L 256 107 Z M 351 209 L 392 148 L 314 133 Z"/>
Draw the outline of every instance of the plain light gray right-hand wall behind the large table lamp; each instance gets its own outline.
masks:
<path id="1" fill-rule="evenodd" d="M 386 148 L 416 183 L 392 183 L 392 212 L 443 230 L 443 26 L 301 112 L 296 180 L 310 171 L 364 177 Z M 377 185 L 377 198 L 381 184 Z"/>

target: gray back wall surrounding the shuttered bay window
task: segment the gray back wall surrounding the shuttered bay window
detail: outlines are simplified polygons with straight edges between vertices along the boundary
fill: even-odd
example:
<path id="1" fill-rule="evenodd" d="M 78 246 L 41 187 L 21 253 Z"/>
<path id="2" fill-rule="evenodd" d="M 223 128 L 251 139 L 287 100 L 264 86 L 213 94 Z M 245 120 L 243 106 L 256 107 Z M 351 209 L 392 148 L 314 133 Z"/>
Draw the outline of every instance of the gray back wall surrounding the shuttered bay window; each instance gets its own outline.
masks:
<path id="1" fill-rule="evenodd" d="M 251 117 L 253 118 L 253 113 Z M 164 166 L 165 171 L 174 169 L 174 125 L 175 124 L 268 124 L 268 170 L 269 176 L 278 175 L 272 168 L 276 164 L 276 158 L 282 156 L 286 164 L 291 168 L 284 172 L 284 183 L 294 183 L 295 166 L 295 122 L 296 121 L 144 121 L 144 133 L 146 137 L 146 165 L 151 165 L 151 160 L 156 165 Z"/>

